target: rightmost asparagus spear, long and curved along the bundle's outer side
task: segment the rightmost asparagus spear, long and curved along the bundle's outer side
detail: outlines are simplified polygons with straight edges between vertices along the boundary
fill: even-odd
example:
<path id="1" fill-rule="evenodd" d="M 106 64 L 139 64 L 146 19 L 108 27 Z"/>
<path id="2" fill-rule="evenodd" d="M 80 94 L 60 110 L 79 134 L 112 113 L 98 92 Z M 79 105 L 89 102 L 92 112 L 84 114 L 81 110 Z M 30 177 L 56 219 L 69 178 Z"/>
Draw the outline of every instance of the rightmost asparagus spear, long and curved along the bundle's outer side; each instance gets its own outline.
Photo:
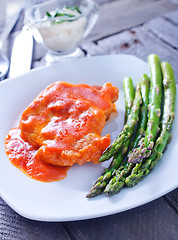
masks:
<path id="1" fill-rule="evenodd" d="M 145 162 L 137 164 L 135 168 L 133 168 L 131 175 L 127 177 L 125 183 L 128 187 L 134 186 L 150 173 L 157 162 L 161 159 L 163 151 L 165 150 L 171 137 L 170 131 L 175 115 L 176 82 L 173 69 L 169 63 L 162 62 L 161 68 L 164 77 L 164 102 L 161 131 L 158 139 L 156 140 L 152 155 L 146 159 Z"/>

